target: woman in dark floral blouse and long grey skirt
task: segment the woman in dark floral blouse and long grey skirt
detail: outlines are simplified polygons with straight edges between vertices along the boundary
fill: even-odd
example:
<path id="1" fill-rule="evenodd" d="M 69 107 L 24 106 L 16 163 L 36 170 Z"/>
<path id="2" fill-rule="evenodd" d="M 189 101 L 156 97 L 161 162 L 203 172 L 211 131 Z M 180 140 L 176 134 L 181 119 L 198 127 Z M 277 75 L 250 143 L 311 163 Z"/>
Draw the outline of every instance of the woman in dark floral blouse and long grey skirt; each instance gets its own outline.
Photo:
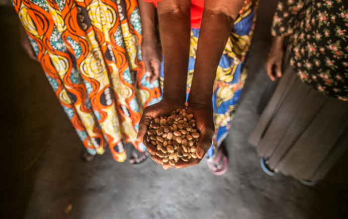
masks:
<path id="1" fill-rule="evenodd" d="M 314 184 L 348 147 L 348 10 L 344 2 L 278 3 L 265 69 L 270 79 L 281 79 L 250 137 L 268 174 L 279 171 Z M 285 36 L 289 44 L 284 59 Z"/>

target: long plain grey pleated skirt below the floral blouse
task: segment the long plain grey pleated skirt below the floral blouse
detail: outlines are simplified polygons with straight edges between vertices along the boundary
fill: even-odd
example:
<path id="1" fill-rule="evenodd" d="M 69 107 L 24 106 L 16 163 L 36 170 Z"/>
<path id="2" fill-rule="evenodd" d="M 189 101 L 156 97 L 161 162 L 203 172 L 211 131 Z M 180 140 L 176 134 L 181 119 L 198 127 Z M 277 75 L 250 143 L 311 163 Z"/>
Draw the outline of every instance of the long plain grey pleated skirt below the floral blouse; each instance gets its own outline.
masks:
<path id="1" fill-rule="evenodd" d="M 319 180 L 348 148 L 348 102 L 314 90 L 290 64 L 284 69 L 249 142 L 279 172 Z"/>

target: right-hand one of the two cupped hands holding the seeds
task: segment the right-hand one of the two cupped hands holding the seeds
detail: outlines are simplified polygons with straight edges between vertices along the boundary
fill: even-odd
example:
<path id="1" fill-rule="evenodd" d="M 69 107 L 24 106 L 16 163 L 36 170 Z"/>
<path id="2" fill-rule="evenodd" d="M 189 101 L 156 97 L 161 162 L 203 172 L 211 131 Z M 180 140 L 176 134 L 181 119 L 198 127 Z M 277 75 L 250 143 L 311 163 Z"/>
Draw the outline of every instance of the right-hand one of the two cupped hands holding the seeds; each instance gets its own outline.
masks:
<path id="1" fill-rule="evenodd" d="M 187 162 L 179 160 L 175 163 L 175 166 L 172 166 L 169 162 L 163 163 L 162 158 L 158 156 L 153 157 L 157 163 L 163 165 L 164 169 L 171 167 L 183 168 L 197 165 L 212 144 L 212 138 L 215 131 L 212 104 L 189 104 L 186 113 L 193 114 L 193 119 L 196 121 L 196 126 L 193 128 L 197 129 L 200 133 L 198 145 L 196 146 L 197 158 L 190 158 Z"/>

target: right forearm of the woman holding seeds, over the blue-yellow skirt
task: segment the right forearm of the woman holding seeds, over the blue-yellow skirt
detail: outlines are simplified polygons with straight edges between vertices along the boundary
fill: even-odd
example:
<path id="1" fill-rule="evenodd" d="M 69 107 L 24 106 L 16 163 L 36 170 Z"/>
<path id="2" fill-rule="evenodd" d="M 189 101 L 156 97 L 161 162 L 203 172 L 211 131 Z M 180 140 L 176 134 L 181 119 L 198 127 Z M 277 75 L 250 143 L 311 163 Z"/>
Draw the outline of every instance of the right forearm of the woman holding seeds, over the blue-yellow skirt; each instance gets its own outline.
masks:
<path id="1" fill-rule="evenodd" d="M 233 8 L 226 3 L 224 11 L 218 3 L 204 5 L 202 24 L 199 32 L 197 54 L 194 66 L 192 85 L 188 97 L 189 104 L 204 103 L 211 104 L 213 85 L 216 77 L 216 70 L 221 55 L 230 36 L 234 20 L 242 7 L 243 1 L 235 1 Z M 220 8 L 219 8 L 220 7 Z"/>

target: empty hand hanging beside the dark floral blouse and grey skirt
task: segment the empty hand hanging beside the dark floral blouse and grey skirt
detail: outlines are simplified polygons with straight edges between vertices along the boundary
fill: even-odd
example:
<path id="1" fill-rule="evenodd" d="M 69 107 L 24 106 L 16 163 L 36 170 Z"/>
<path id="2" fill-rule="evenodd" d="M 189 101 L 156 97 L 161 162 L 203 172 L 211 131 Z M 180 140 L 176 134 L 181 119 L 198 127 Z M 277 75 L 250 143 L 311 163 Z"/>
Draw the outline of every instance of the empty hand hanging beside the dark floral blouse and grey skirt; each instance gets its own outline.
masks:
<path id="1" fill-rule="evenodd" d="M 274 37 L 266 55 L 264 68 L 269 78 L 273 81 L 275 80 L 275 76 L 281 77 L 283 74 L 281 70 L 284 58 L 283 42 L 284 37 Z M 272 72 L 273 66 L 275 74 Z"/>

